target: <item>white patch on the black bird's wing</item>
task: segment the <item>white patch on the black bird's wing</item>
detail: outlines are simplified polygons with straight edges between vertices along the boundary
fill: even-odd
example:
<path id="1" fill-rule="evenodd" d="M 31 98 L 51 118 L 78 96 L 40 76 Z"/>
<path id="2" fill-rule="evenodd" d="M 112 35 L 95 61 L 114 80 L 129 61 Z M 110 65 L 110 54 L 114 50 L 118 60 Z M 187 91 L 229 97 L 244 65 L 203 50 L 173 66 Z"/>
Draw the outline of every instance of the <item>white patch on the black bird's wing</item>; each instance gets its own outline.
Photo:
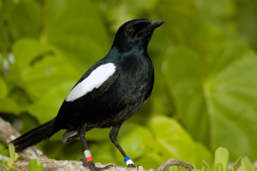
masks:
<path id="1" fill-rule="evenodd" d="M 99 66 L 93 70 L 86 79 L 77 84 L 77 86 L 70 91 L 66 96 L 65 101 L 75 101 L 87 94 L 89 91 L 92 91 L 94 88 L 97 89 L 101 84 L 108 80 L 111 75 L 113 75 L 115 69 L 116 67 L 114 63 L 106 63 Z"/>

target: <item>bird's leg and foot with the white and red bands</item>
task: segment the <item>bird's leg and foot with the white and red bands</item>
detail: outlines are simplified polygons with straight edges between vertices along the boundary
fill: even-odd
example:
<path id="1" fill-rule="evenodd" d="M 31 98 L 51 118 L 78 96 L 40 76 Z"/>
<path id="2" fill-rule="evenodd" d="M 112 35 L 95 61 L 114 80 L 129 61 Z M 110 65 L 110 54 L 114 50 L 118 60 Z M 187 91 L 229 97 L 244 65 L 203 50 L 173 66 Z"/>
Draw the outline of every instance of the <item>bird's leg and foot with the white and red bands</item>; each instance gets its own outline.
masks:
<path id="1" fill-rule="evenodd" d="M 82 145 L 84 147 L 84 156 L 86 157 L 87 163 L 84 159 L 80 159 L 82 161 L 82 165 L 84 167 L 89 167 L 90 171 L 101 171 L 101 170 L 106 170 L 110 167 L 114 167 L 114 165 L 106 165 L 105 167 L 96 167 L 96 165 L 94 165 L 94 161 L 93 158 L 91 156 L 91 153 L 87 147 L 87 140 L 84 137 L 85 132 L 87 130 L 87 125 L 82 125 L 82 127 L 80 127 L 78 129 L 78 136 L 80 137 L 80 140 L 82 142 Z"/>

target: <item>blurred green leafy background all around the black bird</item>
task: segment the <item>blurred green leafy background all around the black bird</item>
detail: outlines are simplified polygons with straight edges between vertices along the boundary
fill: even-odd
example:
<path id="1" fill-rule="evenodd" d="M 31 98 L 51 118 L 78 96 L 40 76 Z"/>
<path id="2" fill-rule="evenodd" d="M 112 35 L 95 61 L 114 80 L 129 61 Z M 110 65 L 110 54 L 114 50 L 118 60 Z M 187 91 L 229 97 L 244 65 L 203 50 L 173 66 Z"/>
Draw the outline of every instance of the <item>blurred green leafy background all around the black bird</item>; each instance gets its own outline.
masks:
<path id="1" fill-rule="evenodd" d="M 0 0 L 0 116 L 21 133 L 54 118 L 133 18 L 165 24 L 148 49 L 156 72 L 151 99 L 118 135 L 127 155 L 146 169 L 168 158 L 200 167 L 219 146 L 230 160 L 243 153 L 256 160 L 254 0 Z M 109 131 L 87 133 L 94 160 L 125 165 Z M 37 147 L 57 160 L 83 158 L 80 141 L 63 144 L 62 133 Z"/>

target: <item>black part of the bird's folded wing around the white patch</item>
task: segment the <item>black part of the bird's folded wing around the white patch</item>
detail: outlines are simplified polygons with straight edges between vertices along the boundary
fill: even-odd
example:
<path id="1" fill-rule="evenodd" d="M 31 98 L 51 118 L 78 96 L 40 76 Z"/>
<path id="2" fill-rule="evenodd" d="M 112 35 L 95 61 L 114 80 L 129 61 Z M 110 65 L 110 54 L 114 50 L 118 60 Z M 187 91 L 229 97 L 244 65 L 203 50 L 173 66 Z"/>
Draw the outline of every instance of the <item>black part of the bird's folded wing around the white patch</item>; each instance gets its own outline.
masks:
<path id="1" fill-rule="evenodd" d="M 97 68 L 98 66 L 99 65 L 93 67 Z M 90 69 L 82 76 L 77 84 L 90 75 L 90 72 L 92 72 Z M 89 91 L 75 101 L 63 101 L 63 104 L 58 111 L 58 115 L 56 116 L 54 130 L 73 130 L 84 123 L 87 123 L 88 127 L 96 127 L 97 125 L 101 125 L 99 123 L 110 118 L 111 115 L 115 115 L 120 110 L 123 110 L 123 104 L 113 105 L 114 103 L 117 104 L 119 102 L 118 98 L 115 98 L 115 94 L 110 93 L 110 88 L 113 87 L 118 76 L 119 73 L 115 70 L 113 75 L 108 77 L 100 87 L 94 88 L 92 91 Z M 116 86 L 117 85 L 118 84 L 116 84 Z M 113 89 L 115 89 L 115 87 L 113 87 Z"/>

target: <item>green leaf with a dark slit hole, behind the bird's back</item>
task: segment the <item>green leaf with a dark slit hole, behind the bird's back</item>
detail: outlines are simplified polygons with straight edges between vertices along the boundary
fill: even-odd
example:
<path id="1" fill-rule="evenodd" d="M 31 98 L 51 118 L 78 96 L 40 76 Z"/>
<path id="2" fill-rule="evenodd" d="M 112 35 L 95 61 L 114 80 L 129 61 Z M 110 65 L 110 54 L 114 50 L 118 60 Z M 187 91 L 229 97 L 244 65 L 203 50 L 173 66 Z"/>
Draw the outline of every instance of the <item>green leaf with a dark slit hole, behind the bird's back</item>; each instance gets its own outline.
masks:
<path id="1" fill-rule="evenodd" d="M 34 39 L 20 39 L 13 46 L 16 82 L 31 97 L 38 99 L 63 82 L 76 82 L 80 73 L 63 54 Z M 68 94 L 68 91 L 67 91 Z"/>

